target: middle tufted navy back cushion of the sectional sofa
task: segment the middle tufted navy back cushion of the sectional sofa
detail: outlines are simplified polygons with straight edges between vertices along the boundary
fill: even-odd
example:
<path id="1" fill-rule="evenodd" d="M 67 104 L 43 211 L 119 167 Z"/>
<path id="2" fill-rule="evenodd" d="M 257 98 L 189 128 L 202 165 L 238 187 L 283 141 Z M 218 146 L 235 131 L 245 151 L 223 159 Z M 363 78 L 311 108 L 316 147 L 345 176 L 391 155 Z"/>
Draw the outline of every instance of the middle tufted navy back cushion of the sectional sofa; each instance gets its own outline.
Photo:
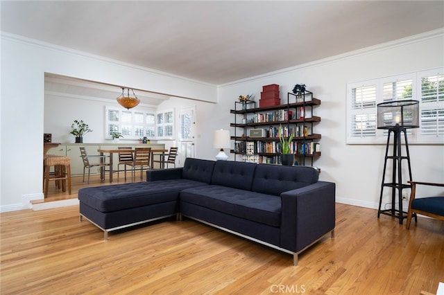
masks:
<path id="1" fill-rule="evenodd" d="M 212 184 L 251 190 L 257 164 L 234 161 L 216 161 Z"/>

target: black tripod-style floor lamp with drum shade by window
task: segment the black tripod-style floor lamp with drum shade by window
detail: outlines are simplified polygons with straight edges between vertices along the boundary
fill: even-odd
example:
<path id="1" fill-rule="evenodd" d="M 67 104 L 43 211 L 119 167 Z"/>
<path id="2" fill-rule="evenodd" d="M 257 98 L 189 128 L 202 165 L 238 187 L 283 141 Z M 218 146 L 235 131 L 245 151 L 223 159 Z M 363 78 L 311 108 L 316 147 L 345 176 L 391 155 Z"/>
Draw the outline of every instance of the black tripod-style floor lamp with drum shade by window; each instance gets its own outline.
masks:
<path id="1" fill-rule="evenodd" d="M 407 129 L 419 127 L 419 102 L 418 100 L 395 100 L 382 102 L 377 105 L 377 128 L 388 129 L 386 155 L 384 159 L 384 172 L 382 174 L 381 195 L 379 196 L 379 215 L 389 215 L 399 219 L 400 224 L 407 218 L 407 212 L 402 211 L 402 190 L 411 188 L 411 184 L 402 183 L 402 160 L 407 160 L 409 168 L 409 180 L 411 181 L 411 166 L 409 143 L 407 142 Z M 393 153 L 388 155 L 390 137 L 393 133 Z M 404 134 L 406 154 L 401 152 L 401 134 Z M 387 162 L 392 161 L 391 181 L 386 182 Z M 391 208 L 381 209 L 384 188 L 391 190 Z M 396 193 L 398 193 L 398 209 L 396 205 Z"/>

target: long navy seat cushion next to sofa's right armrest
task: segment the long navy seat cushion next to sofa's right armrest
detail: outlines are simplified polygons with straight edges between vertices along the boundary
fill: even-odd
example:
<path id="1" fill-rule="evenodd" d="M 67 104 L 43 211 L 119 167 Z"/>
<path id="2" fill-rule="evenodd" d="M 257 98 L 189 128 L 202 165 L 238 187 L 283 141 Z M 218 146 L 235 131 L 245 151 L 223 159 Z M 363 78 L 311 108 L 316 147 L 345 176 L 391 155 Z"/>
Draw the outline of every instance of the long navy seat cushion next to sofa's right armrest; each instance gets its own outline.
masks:
<path id="1" fill-rule="evenodd" d="M 270 226 L 280 226 L 281 200 L 273 195 L 210 185 L 182 190 L 180 202 L 196 204 Z"/>

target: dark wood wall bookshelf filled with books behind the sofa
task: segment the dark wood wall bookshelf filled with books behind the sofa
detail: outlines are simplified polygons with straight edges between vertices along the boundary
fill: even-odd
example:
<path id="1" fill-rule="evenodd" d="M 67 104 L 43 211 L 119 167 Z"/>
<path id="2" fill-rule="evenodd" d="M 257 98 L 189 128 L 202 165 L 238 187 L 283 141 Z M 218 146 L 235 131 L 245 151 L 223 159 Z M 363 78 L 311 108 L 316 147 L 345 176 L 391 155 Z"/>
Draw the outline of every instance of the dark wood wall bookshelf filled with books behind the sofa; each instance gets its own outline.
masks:
<path id="1" fill-rule="evenodd" d="M 285 137 L 294 134 L 291 152 L 298 164 L 313 166 L 314 158 L 321 157 L 321 134 L 315 132 L 321 117 L 314 116 L 319 105 L 321 100 L 314 98 L 310 91 L 300 96 L 289 92 L 287 103 L 269 107 L 256 107 L 254 102 L 243 108 L 241 102 L 235 102 L 234 109 L 230 110 L 234 115 L 230 126 L 234 127 L 231 153 L 235 155 L 235 161 L 279 164 L 278 129 L 282 125 Z M 251 129 L 264 130 L 251 132 Z"/>

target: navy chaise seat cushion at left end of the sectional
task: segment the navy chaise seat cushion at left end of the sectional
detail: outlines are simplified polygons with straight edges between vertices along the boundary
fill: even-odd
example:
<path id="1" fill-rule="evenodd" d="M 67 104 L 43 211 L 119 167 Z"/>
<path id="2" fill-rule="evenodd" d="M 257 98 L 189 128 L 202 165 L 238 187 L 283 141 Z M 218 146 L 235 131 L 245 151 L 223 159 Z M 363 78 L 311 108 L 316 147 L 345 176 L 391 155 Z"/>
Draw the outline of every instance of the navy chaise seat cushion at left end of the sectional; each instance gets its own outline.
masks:
<path id="1" fill-rule="evenodd" d="M 97 211 L 112 212 L 149 204 L 178 201 L 181 190 L 195 186 L 207 186 L 207 184 L 189 179 L 169 179 L 97 186 L 78 190 L 78 199 Z"/>

